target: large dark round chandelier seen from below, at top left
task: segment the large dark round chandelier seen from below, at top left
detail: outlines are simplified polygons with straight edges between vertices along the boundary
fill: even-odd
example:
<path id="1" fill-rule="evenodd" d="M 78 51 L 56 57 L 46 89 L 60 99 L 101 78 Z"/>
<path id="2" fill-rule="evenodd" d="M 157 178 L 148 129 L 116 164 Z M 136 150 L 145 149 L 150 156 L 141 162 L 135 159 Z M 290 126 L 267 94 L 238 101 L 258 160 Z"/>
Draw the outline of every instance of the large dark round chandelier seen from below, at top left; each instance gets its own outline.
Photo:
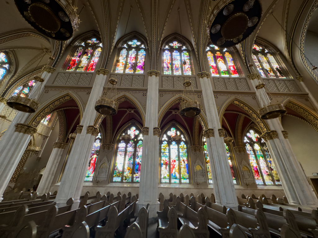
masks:
<path id="1" fill-rule="evenodd" d="M 45 36 L 70 39 L 79 25 L 76 2 L 71 0 L 15 0 L 24 19 Z"/>

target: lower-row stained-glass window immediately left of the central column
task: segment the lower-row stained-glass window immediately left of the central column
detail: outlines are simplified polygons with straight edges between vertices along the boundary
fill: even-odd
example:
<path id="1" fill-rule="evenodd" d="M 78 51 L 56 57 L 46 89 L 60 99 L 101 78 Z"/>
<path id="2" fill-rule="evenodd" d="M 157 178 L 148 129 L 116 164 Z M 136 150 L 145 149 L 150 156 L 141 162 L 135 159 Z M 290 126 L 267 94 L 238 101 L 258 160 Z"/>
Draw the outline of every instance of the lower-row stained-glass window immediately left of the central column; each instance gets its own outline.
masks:
<path id="1" fill-rule="evenodd" d="M 124 134 L 129 134 L 132 139 L 127 144 L 120 139 L 117 143 L 112 181 L 140 182 L 143 136 L 137 126 L 130 126 Z"/>

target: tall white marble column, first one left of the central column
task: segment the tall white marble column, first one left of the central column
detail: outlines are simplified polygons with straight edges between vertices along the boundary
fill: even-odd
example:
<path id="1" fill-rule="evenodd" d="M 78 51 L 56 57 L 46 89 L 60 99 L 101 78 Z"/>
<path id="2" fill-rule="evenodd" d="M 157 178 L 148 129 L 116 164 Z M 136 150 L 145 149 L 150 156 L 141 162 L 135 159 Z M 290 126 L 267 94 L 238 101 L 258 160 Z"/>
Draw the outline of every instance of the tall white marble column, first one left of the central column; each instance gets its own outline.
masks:
<path id="1" fill-rule="evenodd" d="M 93 88 L 80 122 L 81 126 L 77 128 L 78 135 L 75 138 L 58 194 L 55 198 L 55 202 L 59 207 L 64 206 L 67 200 L 72 197 L 74 199 L 73 208 L 78 208 L 89 156 L 94 139 L 98 135 L 98 129 L 93 126 L 97 114 L 95 103 L 103 93 L 103 86 L 108 73 L 109 71 L 106 69 L 98 69 L 96 71 Z M 80 135 L 79 128 L 82 128 Z"/>

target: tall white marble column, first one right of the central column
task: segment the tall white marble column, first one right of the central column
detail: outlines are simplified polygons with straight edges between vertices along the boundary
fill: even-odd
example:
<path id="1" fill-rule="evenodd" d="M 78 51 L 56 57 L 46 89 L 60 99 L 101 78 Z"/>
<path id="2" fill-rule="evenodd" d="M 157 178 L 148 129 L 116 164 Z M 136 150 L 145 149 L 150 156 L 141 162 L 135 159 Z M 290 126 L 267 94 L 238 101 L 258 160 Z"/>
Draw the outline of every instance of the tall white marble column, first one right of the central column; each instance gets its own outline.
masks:
<path id="1" fill-rule="evenodd" d="M 205 135 L 207 136 L 206 141 L 211 164 L 215 199 L 216 202 L 222 206 L 237 209 L 239 204 L 226 155 L 224 133 L 220 130 L 221 124 L 212 90 L 210 74 L 202 72 L 198 73 L 198 77 L 200 78 L 205 114 L 209 128 L 206 130 Z"/>

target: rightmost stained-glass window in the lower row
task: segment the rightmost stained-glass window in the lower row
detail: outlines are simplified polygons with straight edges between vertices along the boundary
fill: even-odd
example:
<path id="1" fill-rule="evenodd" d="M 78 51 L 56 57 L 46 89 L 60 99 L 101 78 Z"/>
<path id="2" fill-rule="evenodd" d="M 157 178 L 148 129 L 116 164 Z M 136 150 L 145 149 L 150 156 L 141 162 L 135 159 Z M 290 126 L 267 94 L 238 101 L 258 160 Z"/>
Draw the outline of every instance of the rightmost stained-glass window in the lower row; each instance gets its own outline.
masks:
<path id="1" fill-rule="evenodd" d="M 254 130 L 244 137 L 246 152 L 258 185 L 281 185 L 275 164 L 264 140 Z"/>

